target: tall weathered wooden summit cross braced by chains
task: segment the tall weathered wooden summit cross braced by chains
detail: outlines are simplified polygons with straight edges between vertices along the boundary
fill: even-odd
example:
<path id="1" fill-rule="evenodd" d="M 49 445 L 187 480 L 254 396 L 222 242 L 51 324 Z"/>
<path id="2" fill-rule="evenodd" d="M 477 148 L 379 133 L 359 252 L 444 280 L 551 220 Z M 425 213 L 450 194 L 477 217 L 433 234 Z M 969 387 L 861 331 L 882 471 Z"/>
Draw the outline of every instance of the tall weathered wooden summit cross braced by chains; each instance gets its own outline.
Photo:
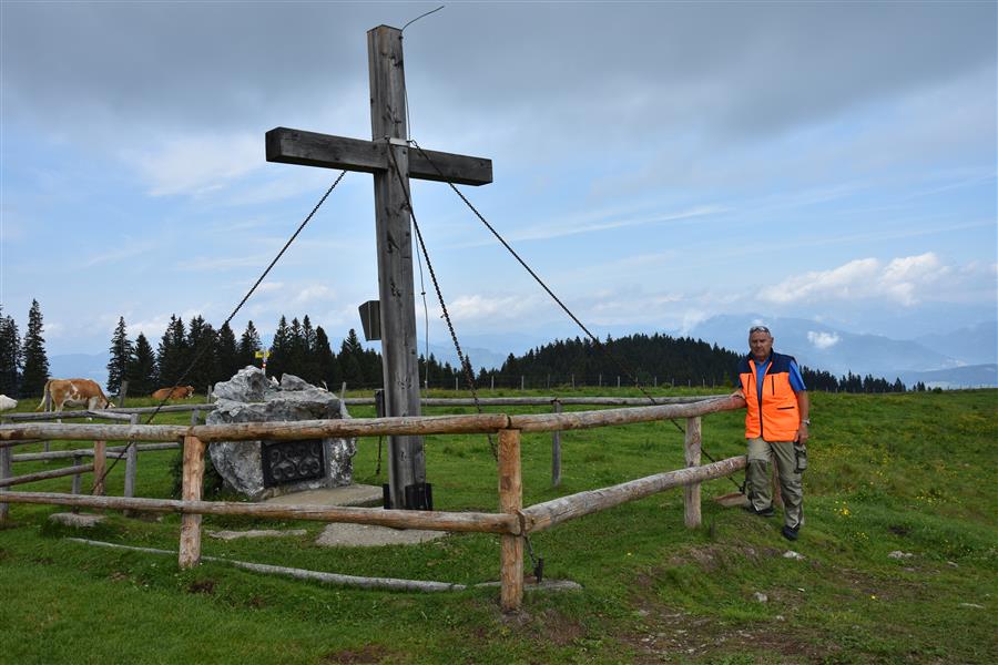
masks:
<path id="1" fill-rule="evenodd" d="M 267 161 L 374 174 L 385 413 L 419 416 L 409 178 L 485 185 L 492 182 L 492 162 L 434 151 L 409 154 L 401 30 L 369 30 L 367 58 L 371 140 L 277 127 L 267 132 Z M 389 437 L 388 456 L 390 507 L 428 508 L 422 437 Z"/>

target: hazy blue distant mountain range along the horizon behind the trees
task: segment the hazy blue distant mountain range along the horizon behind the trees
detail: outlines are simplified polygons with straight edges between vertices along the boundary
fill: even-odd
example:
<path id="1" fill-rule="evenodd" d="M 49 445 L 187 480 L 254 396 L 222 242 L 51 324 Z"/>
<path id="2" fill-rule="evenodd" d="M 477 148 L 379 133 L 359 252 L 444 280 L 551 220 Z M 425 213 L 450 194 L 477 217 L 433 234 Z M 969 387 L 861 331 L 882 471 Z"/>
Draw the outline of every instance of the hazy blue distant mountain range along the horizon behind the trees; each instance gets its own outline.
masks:
<path id="1" fill-rule="evenodd" d="M 790 354 L 802 365 L 835 376 L 849 371 L 900 378 L 907 386 L 923 381 L 929 388 L 998 387 L 998 321 L 959 328 L 945 335 L 923 335 L 915 339 L 892 339 L 882 335 L 848 332 L 809 319 L 763 318 L 755 314 L 721 315 L 709 318 L 686 335 L 711 344 L 746 351 L 748 327 L 762 323 L 776 338 L 776 350 Z M 675 331 L 660 332 L 676 336 Z M 509 354 L 553 341 L 528 335 L 478 335 L 461 340 L 461 350 L 475 368 L 497 368 Z M 368 344 L 378 349 L 377 342 Z M 333 340 L 334 350 L 339 340 Z M 458 365 L 449 344 L 430 344 L 429 351 L 440 362 Z M 420 352 L 422 349 L 420 348 Z M 53 377 L 85 377 L 102 386 L 108 380 L 108 354 L 67 354 L 49 358 Z"/>

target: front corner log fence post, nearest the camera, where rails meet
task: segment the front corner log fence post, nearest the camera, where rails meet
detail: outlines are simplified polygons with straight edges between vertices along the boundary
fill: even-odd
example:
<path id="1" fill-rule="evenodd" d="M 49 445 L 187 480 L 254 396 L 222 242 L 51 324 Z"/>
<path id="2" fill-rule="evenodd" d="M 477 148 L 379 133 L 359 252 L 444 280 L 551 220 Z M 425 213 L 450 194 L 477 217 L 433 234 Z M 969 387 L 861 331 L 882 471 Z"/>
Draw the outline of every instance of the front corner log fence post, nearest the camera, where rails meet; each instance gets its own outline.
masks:
<path id="1" fill-rule="evenodd" d="M 523 507 L 520 477 L 520 430 L 499 430 L 499 511 L 516 514 Z M 523 536 L 500 536 L 500 606 L 517 612 L 523 602 Z"/>

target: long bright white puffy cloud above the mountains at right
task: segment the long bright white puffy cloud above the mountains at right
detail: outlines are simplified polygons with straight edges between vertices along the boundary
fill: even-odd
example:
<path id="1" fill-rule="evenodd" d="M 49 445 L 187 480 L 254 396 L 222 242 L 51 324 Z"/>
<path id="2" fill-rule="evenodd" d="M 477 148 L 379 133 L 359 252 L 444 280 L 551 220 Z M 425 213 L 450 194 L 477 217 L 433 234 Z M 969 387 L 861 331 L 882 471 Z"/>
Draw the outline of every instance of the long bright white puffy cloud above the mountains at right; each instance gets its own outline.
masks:
<path id="1" fill-rule="evenodd" d="M 819 300 L 887 299 L 916 305 L 950 269 L 934 253 L 899 257 L 884 265 L 876 258 L 859 258 L 831 270 L 788 277 L 763 290 L 768 303 L 814 303 Z"/>

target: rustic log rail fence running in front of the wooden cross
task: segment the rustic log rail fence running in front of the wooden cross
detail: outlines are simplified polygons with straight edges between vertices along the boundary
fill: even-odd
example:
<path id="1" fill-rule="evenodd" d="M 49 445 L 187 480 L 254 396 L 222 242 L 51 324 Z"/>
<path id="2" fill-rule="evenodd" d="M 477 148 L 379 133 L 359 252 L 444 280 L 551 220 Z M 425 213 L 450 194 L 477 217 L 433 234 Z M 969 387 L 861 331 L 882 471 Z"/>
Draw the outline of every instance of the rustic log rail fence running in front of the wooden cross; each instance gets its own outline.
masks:
<path id="1" fill-rule="evenodd" d="M 560 401 L 569 403 L 568 399 Z M 452 400 L 449 403 L 452 403 Z M 646 400 L 644 403 L 646 403 Z M 182 441 L 183 495 L 181 500 L 88 497 L 54 492 L 16 492 L 0 487 L 0 498 L 2 498 L 3 502 L 9 503 L 41 503 L 77 508 L 181 513 L 179 552 L 181 567 L 191 567 L 201 560 L 201 519 L 204 514 L 241 514 L 265 519 L 376 524 L 397 529 L 499 533 L 501 536 L 500 603 L 503 611 L 517 611 L 523 597 L 523 539 L 531 533 L 551 529 L 569 520 L 676 487 L 685 488 L 686 526 L 700 525 L 700 483 L 730 475 L 745 467 L 745 458 L 743 456 L 727 458 L 706 466 L 700 464 L 701 418 L 709 413 L 740 409 L 744 408 L 744 400 L 725 396 L 707 399 L 699 398 L 696 401 L 688 400 L 685 403 L 574 412 L 558 412 L 560 409 L 556 408 L 553 413 L 515 416 L 480 413 L 470 416 L 303 420 L 298 422 L 192 424 L 190 427 L 134 423 L 63 424 L 49 422 L 3 424 L 0 426 L 0 453 L 6 452 L 8 459 L 11 443 L 29 440 Z M 520 470 L 520 437 L 522 432 L 558 432 L 676 418 L 686 420 L 684 438 L 686 468 L 656 473 L 608 488 L 578 492 L 523 508 Z M 499 437 L 498 513 L 276 505 L 201 500 L 204 454 L 207 444 L 215 441 L 472 433 L 495 433 Z M 0 460 L 0 468 L 2 468 L 2 460 Z M 96 473 L 96 470 L 94 472 Z M 3 513 L 0 512 L 0 519 L 2 516 Z"/>

